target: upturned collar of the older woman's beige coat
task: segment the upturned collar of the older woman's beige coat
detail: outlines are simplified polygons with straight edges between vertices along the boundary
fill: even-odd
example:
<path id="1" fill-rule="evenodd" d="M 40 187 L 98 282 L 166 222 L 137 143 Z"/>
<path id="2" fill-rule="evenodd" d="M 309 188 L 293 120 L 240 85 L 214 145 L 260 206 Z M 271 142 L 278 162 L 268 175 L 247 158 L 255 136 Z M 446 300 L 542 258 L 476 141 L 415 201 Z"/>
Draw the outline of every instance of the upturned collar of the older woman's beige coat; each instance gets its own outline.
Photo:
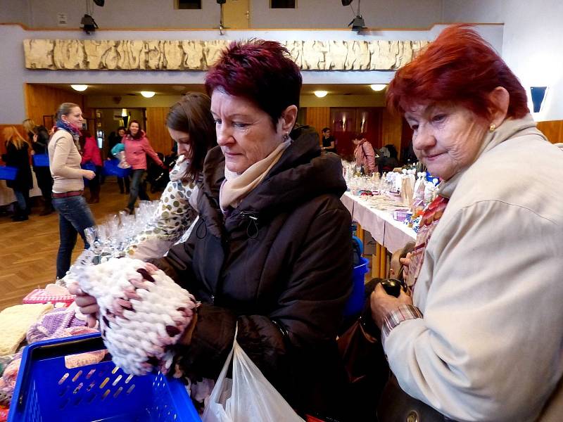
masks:
<path id="1" fill-rule="evenodd" d="M 530 114 L 525 115 L 521 119 L 507 119 L 493 132 L 486 133 L 483 137 L 483 142 L 481 143 L 481 148 L 479 148 L 475 161 L 479 160 L 482 155 L 485 155 L 505 141 L 517 136 L 524 136 L 532 133 L 542 136 L 543 139 L 547 141 L 547 138 L 545 138 L 545 136 L 536 129 L 536 122 L 533 121 L 533 117 Z M 469 167 L 471 167 L 471 165 Z M 440 195 L 445 196 L 445 198 L 451 198 L 457 184 L 469 167 L 457 172 L 457 174 L 450 179 L 442 181 L 439 186 Z"/>

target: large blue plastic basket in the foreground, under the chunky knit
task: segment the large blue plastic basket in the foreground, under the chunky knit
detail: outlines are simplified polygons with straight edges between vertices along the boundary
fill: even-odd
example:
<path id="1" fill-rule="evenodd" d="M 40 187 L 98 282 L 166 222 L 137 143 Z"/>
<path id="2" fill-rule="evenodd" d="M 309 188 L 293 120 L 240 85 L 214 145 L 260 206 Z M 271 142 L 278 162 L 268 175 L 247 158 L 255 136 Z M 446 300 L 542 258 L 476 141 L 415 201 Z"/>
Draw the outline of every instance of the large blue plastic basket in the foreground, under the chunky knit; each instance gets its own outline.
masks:
<path id="1" fill-rule="evenodd" d="M 25 347 L 8 422 L 201 421 L 176 379 L 130 376 L 111 361 L 65 366 L 65 356 L 104 348 L 99 333 Z"/>

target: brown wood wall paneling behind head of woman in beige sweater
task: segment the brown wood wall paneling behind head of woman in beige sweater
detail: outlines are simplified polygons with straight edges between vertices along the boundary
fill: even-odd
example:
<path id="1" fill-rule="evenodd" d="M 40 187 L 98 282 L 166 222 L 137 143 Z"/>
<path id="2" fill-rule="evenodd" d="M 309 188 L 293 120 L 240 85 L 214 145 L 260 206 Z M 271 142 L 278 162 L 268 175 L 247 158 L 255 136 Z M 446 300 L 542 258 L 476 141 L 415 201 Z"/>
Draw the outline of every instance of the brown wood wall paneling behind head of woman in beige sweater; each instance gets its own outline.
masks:
<path id="1" fill-rule="evenodd" d="M 61 103 L 75 103 L 84 110 L 82 94 L 38 84 L 25 84 L 24 91 L 26 115 L 35 124 L 43 124 L 43 116 L 54 115 Z"/>

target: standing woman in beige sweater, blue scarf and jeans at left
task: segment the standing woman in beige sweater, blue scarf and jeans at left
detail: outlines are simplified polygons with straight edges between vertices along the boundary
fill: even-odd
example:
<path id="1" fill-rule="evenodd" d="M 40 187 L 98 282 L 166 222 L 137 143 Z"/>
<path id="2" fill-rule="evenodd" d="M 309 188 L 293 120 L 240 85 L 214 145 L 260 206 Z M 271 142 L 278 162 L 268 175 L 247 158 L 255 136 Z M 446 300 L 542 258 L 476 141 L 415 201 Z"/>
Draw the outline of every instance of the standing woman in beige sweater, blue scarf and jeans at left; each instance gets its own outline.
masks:
<path id="1" fill-rule="evenodd" d="M 49 139 L 49 167 L 53 176 L 53 207 L 58 211 L 58 230 L 61 243 L 57 253 L 57 279 L 62 279 L 70 268 L 72 250 L 77 235 L 89 244 L 84 229 L 96 225 L 94 215 L 82 193 L 84 180 L 96 174 L 80 168 L 82 157 L 77 148 L 82 129 L 82 110 L 74 103 L 62 103 L 56 113 L 55 132 Z"/>

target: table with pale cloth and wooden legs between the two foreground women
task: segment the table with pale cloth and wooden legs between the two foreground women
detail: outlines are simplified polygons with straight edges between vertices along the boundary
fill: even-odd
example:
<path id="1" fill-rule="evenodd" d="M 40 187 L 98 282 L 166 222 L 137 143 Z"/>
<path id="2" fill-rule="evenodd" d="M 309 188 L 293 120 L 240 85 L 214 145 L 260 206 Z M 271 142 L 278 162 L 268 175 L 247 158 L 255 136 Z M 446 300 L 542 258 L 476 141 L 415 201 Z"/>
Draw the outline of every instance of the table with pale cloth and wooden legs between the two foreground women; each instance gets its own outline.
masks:
<path id="1" fill-rule="evenodd" d="M 341 197 L 343 205 L 360 227 L 358 234 L 365 241 L 364 231 L 369 231 L 376 242 L 372 257 L 372 276 L 385 277 L 388 268 L 388 254 L 414 241 L 417 234 L 403 222 L 393 219 L 392 210 L 379 210 L 370 203 L 370 196 L 355 196 L 350 192 Z"/>

